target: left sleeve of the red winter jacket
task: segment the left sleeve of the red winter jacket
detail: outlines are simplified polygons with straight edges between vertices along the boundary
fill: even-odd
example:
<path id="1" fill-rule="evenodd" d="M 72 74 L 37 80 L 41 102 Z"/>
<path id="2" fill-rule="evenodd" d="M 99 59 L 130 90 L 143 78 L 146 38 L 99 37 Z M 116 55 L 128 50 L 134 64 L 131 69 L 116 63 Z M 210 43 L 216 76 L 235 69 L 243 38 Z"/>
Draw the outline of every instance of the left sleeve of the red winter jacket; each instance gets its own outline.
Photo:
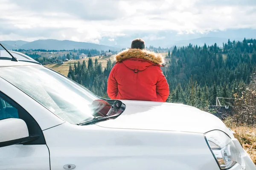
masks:
<path id="1" fill-rule="evenodd" d="M 107 86 L 107 93 L 110 99 L 116 99 L 118 94 L 118 87 L 117 82 L 115 79 L 115 66 L 110 71 L 109 77 L 108 77 L 108 86 Z"/>

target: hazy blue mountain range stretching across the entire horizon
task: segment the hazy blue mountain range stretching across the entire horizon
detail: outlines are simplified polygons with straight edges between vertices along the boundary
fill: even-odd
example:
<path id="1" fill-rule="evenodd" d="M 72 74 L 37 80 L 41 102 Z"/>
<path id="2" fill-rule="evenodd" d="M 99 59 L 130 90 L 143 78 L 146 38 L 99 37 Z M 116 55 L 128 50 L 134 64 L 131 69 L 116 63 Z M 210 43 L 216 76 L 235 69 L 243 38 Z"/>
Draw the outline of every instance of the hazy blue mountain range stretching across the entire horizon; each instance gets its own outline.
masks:
<path id="1" fill-rule="evenodd" d="M 93 44 L 88 42 L 75 42 L 69 40 L 36 40 L 33 42 L 27 41 L 0 41 L 5 45 L 7 49 L 45 49 L 45 50 L 73 50 L 78 48 L 86 49 L 97 49 L 97 50 L 113 50 L 119 51 L 122 48 L 129 48 L 134 38 L 142 38 L 145 40 L 145 45 L 149 47 L 170 48 L 173 45 L 178 47 L 186 46 L 191 43 L 192 45 L 213 45 L 217 43 L 218 46 L 222 47 L 222 43 L 227 43 L 236 40 L 241 41 L 246 39 L 256 38 L 256 29 L 252 28 L 239 28 L 239 29 L 227 29 L 227 30 L 215 30 L 207 33 L 189 33 L 180 34 L 177 31 L 162 30 L 162 31 L 136 31 L 123 36 L 108 37 L 104 36 L 99 39 L 100 44 Z M 1 48 L 0 48 L 1 49 Z"/>

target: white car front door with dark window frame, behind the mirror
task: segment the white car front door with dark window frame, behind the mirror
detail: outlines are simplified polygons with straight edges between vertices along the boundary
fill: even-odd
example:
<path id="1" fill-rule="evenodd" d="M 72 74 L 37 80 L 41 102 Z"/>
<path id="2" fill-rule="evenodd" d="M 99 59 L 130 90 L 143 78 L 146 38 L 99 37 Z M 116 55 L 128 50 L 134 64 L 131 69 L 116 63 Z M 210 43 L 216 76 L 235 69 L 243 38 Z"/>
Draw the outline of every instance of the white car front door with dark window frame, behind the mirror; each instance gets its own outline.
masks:
<path id="1" fill-rule="evenodd" d="M 8 118 L 23 119 L 33 140 L 0 147 L 0 170 L 50 170 L 49 150 L 38 123 L 18 103 L 0 91 L 0 123 Z"/>

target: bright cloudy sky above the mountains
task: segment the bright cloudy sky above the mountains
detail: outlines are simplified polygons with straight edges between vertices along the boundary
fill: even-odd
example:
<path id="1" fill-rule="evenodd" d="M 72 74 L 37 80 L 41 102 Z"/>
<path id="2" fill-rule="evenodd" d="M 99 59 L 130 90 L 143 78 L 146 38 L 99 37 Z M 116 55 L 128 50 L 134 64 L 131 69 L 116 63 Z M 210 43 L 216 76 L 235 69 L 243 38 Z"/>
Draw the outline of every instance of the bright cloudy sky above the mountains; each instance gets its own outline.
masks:
<path id="1" fill-rule="evenodd" d="M 247 28 L 256 29 L 256 0 L 0 0 L 0 40 L 114 45 Z"/>

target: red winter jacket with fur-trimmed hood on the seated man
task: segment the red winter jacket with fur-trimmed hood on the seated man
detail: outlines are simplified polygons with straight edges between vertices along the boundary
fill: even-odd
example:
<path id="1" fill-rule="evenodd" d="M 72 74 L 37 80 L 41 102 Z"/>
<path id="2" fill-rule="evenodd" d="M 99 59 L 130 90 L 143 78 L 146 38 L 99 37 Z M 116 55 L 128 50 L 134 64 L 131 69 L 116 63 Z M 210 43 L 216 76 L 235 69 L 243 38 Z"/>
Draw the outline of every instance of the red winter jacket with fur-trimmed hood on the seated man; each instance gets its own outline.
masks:
<path id="1" fill-rule="evenodd" d="M 108 78 L 111 99 L 166 102 L 169 85 L 160 64 L 163 57 L 154 52 L 127 49 L 116 55 Z"/>

